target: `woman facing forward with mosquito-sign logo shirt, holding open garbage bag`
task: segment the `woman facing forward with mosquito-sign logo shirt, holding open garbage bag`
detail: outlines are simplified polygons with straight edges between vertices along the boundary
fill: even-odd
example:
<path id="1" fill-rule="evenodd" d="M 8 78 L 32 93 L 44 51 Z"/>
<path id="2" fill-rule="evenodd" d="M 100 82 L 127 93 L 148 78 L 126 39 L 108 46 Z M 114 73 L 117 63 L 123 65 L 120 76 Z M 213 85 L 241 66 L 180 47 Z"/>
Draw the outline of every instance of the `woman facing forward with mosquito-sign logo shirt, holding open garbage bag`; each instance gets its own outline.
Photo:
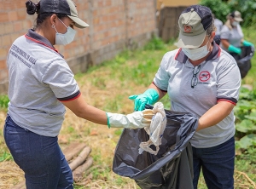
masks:
<path id="1" fill-rule="evenodd" d="M 234 188 L 235 116 L 241 77 L 236 60 L 214 42 L 212 12 L 205 6 L 184 9 L 178 19 L 179 49 L 167 52 L 153 83 L 134 94 L 135 111 L 153 105 L 164 95 L 172 111 L 198 117 L 190 140 L 193 148 L 194 188 L 202 170 L 207 188 Z"/>

